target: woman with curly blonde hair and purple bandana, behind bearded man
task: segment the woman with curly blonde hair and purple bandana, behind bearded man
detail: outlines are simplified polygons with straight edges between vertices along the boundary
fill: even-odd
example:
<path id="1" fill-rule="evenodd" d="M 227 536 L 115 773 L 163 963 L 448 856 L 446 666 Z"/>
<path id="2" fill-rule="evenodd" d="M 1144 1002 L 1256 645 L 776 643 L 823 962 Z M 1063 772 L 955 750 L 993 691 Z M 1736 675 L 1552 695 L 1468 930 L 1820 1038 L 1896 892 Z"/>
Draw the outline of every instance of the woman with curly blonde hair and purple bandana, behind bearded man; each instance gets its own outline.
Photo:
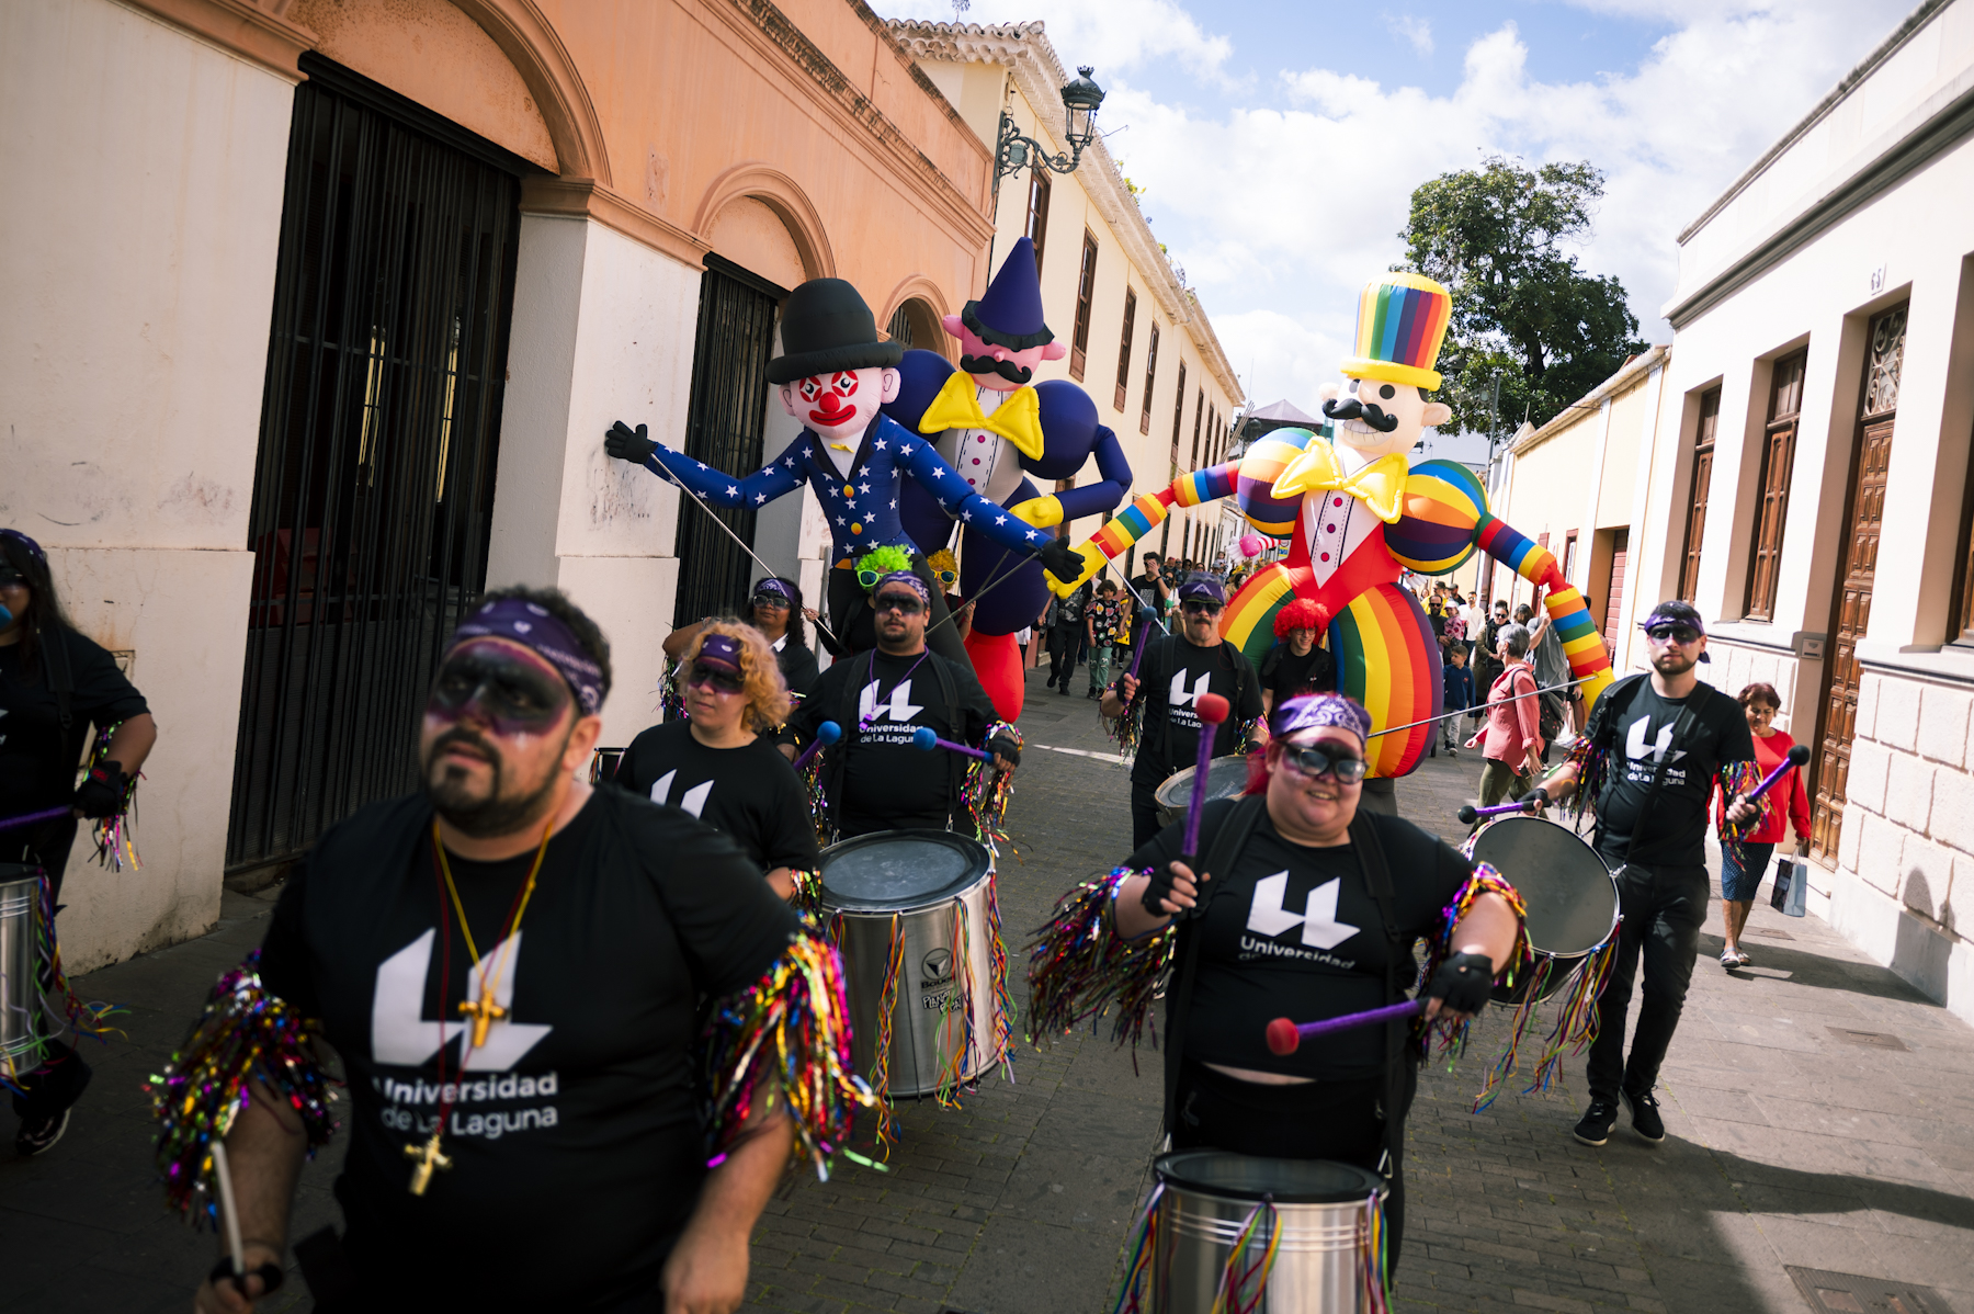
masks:
<path id="1" fill-rule="evenodd" d="M 813 872 L 821 856 L 801 781 L 772 738 L 790 708 L 774 647 L 732 618 L 701 621 L 679 683 L 691 718 L 632 740 L 616 783 L 722 831 L 790 898 L 794 872 Z"/>

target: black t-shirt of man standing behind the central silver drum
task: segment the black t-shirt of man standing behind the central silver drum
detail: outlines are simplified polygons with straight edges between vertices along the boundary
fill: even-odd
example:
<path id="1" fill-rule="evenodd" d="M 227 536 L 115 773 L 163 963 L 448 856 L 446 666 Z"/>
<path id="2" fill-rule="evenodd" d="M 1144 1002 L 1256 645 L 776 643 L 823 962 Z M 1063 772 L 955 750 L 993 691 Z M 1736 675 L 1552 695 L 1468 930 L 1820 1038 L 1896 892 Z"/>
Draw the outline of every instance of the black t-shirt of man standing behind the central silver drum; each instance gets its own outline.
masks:
<path id="1" fill-rule="evenodd" d="M 948 706 L 942 671 L 957 708 Z M 807 744 L 825 720 L 843 728 L 843 738 L 823 750 L 823 779 L 837 833 L 849 839 L 908 827 L 944 831 L 957 805 L 959 769 L 969 760 L 940 748 L 920 752 L 912 732 L 932 726 L 942 740 L 981 748 L 987 726 L 1001 716 L 973 667 L 930 649 L 912 657 L 871 649 L 823 671 L 788 726 Z"/>

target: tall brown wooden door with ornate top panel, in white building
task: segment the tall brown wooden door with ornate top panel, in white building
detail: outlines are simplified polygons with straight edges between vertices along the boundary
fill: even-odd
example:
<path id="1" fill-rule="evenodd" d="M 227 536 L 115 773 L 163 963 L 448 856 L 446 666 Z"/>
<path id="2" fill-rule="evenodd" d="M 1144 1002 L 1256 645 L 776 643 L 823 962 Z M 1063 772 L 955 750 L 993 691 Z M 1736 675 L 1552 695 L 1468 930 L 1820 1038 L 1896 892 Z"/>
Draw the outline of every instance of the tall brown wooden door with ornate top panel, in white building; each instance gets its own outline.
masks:
<path id="1" fill-rule="evenodd" d="M 1816 807 L 1810 852 L 1836 862 L 1844 829 L 1852 740 L 1858 734 L 1858 639 L 1871 627 L 1871 582 L 1877 576 L 1877 543 L 1885 523 L 1885 474 L 1891 468 L 1891 430 L 1899 404 L 1899 369 L 1905 357 L 1905 308 L 1871 322 L 1871 359 L 1852 454 L 1850 491 L 1844 499 L 1844 560 L 1826 643 L 1824 700 L 1816 736 Z"/>

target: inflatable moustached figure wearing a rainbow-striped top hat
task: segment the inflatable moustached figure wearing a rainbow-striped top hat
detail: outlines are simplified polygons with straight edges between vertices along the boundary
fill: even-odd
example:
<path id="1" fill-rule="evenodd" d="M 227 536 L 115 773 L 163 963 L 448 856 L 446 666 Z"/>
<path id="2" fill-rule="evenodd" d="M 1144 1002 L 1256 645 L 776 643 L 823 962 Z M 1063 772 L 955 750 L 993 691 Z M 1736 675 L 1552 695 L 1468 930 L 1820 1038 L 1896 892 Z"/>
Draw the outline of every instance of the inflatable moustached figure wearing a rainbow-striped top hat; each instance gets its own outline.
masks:
<path id="1" fill-rule="evenodd" d="M 1486 491 L 1465 466 L 1435 460 L 1407 468 L 1419 432 L 1451 416 L 1427 397 L 1439 389 L 1433 365 L 1451 312 L 1447 290 L 1419 274 L 1388 274 L 1366 286 L 1356 355 L 1342 363 L 1346 387 L 1323 404 L 1336 422 L 1334 444 L 1309 430 L 1275 430 L 1238 462 L 1137 497 L 1078 548 L 1084 574 L 1050 588 L 1076 588 L 1175 503 L 1238 497 L 1248 523 L 1289 539 L 1289 552 L 1242 586 L 1220 633 L 1259 661 L 1273 639 L 1271 620 L 1287 602 L 1307 598 L 1327 608 L 1338 693 L 1370 708 L 1376 730 L 1392 730 L 1370 742 L 1372 775 L 1411 771 L 1437 726 L 1398 726 L 1443 710 L 1439 643 L 1425 612 L 1398 584 L 1405 570 L 1451 574 L 1480 550 L 1546 590 L 1571 677 L 1583 681 L 1585 704 L 1593 704 L 1611 683 L 1611 661 L 1556 556 L 1488 515 Z"/>

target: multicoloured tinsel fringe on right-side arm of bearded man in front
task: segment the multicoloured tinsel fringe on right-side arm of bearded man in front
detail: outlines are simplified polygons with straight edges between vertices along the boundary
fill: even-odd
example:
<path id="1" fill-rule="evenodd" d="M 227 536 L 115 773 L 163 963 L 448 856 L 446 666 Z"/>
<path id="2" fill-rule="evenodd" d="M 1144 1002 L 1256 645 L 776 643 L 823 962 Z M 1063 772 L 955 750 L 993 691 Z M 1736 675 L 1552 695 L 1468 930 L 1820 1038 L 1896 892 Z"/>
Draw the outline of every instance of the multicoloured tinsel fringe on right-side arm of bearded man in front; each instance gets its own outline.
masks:
<path id="1" fill-rule="evenodd" d="M 796 1154 L 829 1178 L 829 1160 L 851 1138 L 857 1107 L 876 1099 L 851 1071 L 851 1014 L 843 959 L 815 935 L 746 990 L 719 1000 L 705 1034 L 711 1164 L 726 1158 L 756 1107 L 784 1105 Z"/>

